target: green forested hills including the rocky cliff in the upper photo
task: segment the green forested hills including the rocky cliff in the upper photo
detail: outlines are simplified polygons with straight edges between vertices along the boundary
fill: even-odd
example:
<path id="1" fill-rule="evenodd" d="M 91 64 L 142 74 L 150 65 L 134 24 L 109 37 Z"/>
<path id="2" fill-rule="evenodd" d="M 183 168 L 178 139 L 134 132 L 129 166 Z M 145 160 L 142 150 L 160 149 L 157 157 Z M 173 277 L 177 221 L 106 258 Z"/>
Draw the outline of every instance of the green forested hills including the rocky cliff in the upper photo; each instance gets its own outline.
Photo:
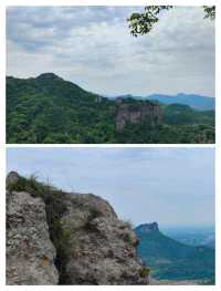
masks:
<path id="1" fill-rule="evenodd" d="M 7 142 L 214 143 L 214 111 L 148 100 L 110 100 L 53 73 L 7 77 Z"/>

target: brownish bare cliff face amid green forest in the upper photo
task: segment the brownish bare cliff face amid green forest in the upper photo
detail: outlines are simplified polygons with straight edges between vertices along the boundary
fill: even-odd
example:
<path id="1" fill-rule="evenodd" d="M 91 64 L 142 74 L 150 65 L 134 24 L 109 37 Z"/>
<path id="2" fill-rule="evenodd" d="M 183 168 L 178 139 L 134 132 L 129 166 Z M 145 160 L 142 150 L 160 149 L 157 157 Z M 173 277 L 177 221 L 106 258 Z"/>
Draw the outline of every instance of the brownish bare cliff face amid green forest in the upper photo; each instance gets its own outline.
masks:
<path id="1" fill-rule="evenodd" d="M 161 123 L 160 107 L 154 103 L 140 102 L 140 104 L 125 104 L 118 102 L 118 111 L 116 117 L 117 131 L 124 129 L 126 124 L 148 122 L 150 125 Z"/>

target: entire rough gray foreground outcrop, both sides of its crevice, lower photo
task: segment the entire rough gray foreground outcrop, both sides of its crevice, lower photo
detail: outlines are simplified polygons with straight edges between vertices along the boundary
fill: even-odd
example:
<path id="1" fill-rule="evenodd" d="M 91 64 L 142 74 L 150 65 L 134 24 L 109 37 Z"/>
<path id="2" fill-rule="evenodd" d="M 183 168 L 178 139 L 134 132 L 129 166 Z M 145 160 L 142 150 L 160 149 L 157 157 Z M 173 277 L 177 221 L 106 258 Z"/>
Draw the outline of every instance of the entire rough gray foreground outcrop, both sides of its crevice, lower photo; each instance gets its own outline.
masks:
<path id="1" fill-rule="evenodd" d="M 15 183 L 27 190 L 22 179 Z M 40 198 L 39 185 L 30 193 L 8 187 L 8 284 L 148 283 L 136 257 L 137 237 L 107 201 L 44 186 Z"/>

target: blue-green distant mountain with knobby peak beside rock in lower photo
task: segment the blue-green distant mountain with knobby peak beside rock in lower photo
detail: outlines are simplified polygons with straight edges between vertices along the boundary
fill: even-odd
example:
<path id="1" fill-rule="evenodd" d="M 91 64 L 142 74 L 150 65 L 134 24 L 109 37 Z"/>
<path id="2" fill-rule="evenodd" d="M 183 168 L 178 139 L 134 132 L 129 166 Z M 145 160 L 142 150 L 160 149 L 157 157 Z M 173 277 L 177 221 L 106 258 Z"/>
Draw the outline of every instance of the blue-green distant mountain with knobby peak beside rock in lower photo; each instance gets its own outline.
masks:
<path id="1" fill-rule="evenodd" d="M 157 280 L 200 280 L 214 282 L 214 250 L 191 247 L 165 236 L 156 222 L 135 229 L 138 257 Z"/>

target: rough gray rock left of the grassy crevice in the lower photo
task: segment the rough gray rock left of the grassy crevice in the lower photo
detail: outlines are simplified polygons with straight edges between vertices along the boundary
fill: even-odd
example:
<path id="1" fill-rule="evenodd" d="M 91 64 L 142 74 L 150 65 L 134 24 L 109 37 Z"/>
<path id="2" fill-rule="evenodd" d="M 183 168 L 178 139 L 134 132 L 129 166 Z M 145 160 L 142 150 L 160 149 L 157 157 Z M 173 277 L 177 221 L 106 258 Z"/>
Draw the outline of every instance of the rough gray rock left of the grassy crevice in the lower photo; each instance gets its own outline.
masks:
<path id="1" fill-rule="evenodd" d="M 8 193 L 7 284 L 57 284 L 54 259 L 44 202 L 28 193 Z"/>

